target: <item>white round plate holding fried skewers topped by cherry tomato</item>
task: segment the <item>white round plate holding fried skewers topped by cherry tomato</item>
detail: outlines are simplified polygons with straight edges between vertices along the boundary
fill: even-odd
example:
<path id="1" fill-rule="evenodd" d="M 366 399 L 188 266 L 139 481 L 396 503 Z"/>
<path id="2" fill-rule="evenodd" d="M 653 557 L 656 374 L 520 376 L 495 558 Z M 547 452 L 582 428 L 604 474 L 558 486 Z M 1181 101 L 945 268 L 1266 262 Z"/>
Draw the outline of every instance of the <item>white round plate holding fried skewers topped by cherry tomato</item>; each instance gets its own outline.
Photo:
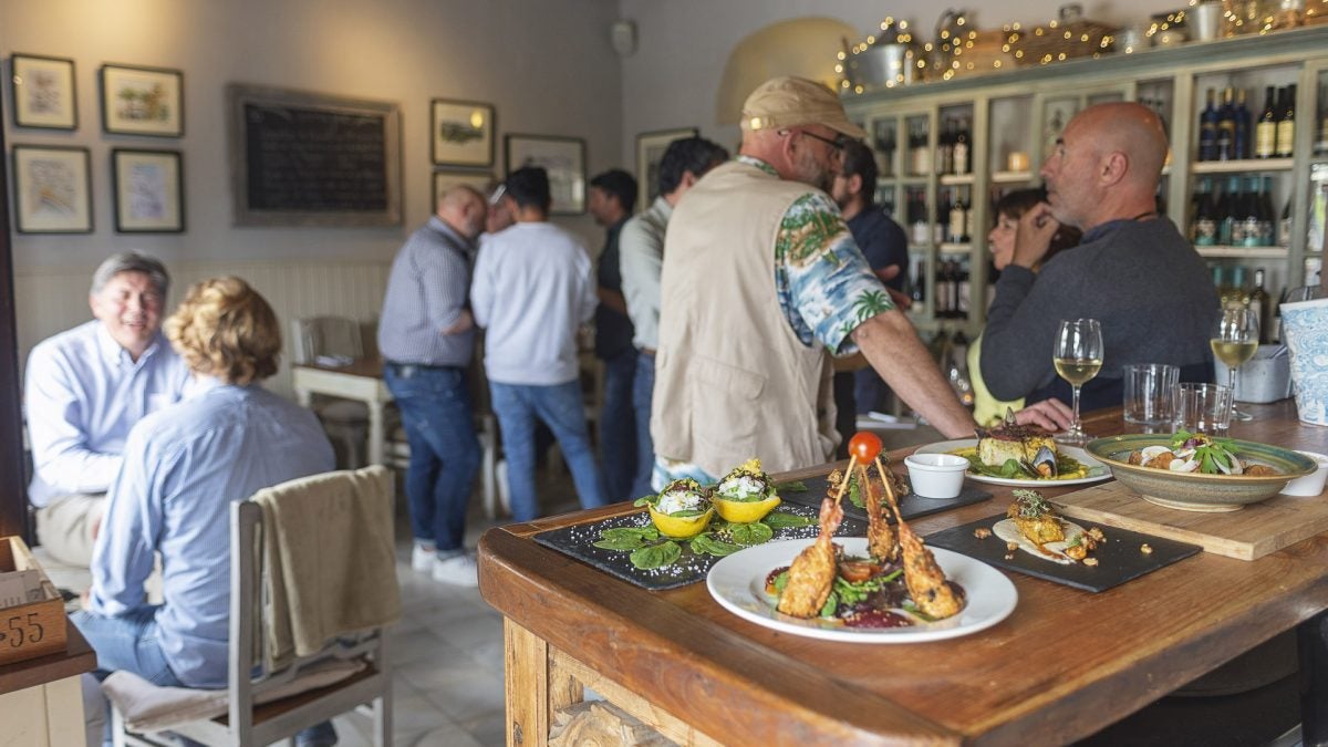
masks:
<path id="1" fill-rule="evenodd" d="M 911 627 L 845 627 L 826 619 L 799 619 L 774 609 L 765 593 L 765 578 L 786 566 L 815 540 L 784 540 L 748 548 L 720 558 L 705 578 L 710 595 L 724 609 L 764 627 L 850 643 L 920 643 L 957 638 L 985 630 L 1015 611 L 1019 593 L 995 568 L 942 548 L 930 548 L 946 577 L 964 587 L 968 601 L 957 615 L 939 622 L 918 622 Z M 850 556 L 866 556 L 865 537 L 838 537 L 835 544 Z"/>

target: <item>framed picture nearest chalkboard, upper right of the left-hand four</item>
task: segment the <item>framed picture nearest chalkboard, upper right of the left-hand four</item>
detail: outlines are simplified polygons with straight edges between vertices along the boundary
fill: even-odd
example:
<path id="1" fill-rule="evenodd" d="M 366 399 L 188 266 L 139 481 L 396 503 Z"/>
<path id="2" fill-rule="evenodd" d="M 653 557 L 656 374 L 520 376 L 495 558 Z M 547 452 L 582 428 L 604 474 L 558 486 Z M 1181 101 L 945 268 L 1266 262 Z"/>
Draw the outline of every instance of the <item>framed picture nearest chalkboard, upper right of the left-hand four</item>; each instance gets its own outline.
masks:
<path id="1" fill-rule="evenodd" d="M 185 73 L 102 65 L 101 128 L 113 134 L 185 134 Z"/>

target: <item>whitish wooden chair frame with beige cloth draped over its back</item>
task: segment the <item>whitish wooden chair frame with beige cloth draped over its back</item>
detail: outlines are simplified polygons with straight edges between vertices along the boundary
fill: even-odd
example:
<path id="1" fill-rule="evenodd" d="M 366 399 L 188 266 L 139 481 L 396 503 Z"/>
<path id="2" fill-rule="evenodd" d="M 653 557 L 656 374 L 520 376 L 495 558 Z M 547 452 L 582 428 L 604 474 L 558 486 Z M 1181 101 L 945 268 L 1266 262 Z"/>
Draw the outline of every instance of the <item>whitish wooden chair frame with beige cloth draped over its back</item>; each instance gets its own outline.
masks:
<path id="1" fill-rule="evenodd" d="M 359 473 L 390 485 L 384 467 Z M 389 504 L 390 505 L 390 504 Z M 390 508 L 388 509 L 390 512 Z M 364 704 L 372 710 L 373 742 L 392 744 L 392 671 L 386 627 L 343 633 L 313 655 L 263 673 L 266 626 L 263 577 L 272 532 L 252 500 L 231 505 L 230 675 L 226 690 L 157 687 L 131 673 L 113 673 L 102 685 L 112 702 L 117 747 L 174 744 L 165 732 L 205 744 L 271 744 Z M 390 530 L 372 552 L 393 553 Z M 360 562 L 360 561 L 353 561 Z M 396 576 L 382 584 L 397 585 Z M 127 675 L 127 677 L 126 677 Z"/>

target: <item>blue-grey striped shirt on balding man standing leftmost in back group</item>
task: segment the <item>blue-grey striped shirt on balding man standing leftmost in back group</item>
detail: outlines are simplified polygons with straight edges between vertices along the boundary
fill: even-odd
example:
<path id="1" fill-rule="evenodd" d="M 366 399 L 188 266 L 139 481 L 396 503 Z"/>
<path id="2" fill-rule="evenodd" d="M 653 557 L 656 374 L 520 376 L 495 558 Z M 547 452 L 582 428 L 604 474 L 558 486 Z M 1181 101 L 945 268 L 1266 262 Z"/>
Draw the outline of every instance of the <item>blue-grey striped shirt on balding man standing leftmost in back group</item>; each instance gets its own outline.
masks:
<path id="1" fill-rule="evenodd" d="M 378 320 L 378 351 L 396 363 L 470 364 L 471 327 L 444 335 L 466 308 L 470 294 L 470 242 L 437 215 L 410 234 L 388 275 Z"/>

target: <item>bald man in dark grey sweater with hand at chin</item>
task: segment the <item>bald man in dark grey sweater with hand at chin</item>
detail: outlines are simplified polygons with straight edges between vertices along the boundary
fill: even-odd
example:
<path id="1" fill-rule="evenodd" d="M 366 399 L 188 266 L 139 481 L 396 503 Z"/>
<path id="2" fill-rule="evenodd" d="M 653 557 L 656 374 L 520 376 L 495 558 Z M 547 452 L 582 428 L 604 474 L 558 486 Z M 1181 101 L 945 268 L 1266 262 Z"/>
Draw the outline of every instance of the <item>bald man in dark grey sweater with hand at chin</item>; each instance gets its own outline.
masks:
<path id="1" fill-rule="evenodd" d="M 1133 102 L 1089 106 L 1065 126 L 1041 170 L 1048 202 L 1020 219 L 987 314 L 983 379 L 997 399 L 1069 401 L 1052 367 L 1061 319 L 1102 323 L 1105 359 L 1082 388 L 1084 409 L 1120 405 L 1130 363 L 1170 363 L 1182 381 L 1212 380 L 1218 294 L 1203 259 L 1157 213 L 1166 150 L 1157 114 Z M 1084 231 L 1080 246 L 1033 274 L 1061 223 Z"/>

